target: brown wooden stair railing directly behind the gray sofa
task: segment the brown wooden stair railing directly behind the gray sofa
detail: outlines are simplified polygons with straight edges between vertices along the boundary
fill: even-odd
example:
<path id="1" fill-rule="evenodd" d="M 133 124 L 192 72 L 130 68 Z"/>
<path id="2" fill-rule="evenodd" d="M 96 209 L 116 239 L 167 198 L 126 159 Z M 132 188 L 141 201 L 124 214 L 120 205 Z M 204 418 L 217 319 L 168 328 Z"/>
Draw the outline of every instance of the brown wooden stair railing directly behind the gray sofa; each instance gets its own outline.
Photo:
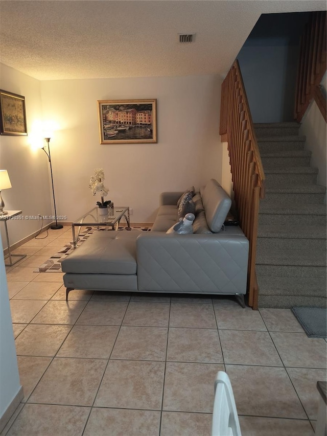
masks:
<path id="1" fill-rule="evenodd" d="M 233 191 L 242 231 L 250 242 L 247 294 L 248 304 L 258 309 L 255 275 L 259 200 L 265 196 L 265 174 L 253 130 L 241 70 L 236 60 L 222 83 L 221 140 L 228 143 Z"/>

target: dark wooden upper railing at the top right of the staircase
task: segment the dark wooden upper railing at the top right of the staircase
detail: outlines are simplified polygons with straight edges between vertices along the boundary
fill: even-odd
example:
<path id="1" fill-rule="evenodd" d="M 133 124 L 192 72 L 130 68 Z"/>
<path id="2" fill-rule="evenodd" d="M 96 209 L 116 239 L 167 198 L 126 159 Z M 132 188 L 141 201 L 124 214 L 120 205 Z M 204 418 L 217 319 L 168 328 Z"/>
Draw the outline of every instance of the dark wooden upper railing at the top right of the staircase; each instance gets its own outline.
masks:
<path id="1" fill-rule="evenodd" d="M 326 11 L 312 12 L 300 40 L 294 118 L 300 123 L 312 98 L 319 99 L 319 86 L 326 72 Z M 320 91 L 321 93 L 321 91 Z M 317 101 L 317 100 L 316 100 Z M 318 102 L 317 102 L 318 104 Z M 325 103 L 324 103 L 325 104 Z M 318 107 L 326 120 L 324 105 Z M 324 111 L 324 112 L 323 112 Z"/>

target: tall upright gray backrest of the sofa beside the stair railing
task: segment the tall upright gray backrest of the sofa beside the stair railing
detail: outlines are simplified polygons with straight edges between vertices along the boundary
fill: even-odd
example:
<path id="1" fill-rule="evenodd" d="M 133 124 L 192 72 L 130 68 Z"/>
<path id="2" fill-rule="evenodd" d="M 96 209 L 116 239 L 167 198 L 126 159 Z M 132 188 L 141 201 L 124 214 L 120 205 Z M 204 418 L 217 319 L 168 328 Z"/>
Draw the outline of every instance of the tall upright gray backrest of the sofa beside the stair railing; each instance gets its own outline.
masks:
<path id="1" fill-rule="evenodd" d="M 213 201 L 213 199 L 215 199 L 215 201 Z M 214 233 L 220 232 L 229 212 L 231 199 L 217 180 L 211 179 L 207 182 L 203 190 L 202 202 L 210 230 Z"/>

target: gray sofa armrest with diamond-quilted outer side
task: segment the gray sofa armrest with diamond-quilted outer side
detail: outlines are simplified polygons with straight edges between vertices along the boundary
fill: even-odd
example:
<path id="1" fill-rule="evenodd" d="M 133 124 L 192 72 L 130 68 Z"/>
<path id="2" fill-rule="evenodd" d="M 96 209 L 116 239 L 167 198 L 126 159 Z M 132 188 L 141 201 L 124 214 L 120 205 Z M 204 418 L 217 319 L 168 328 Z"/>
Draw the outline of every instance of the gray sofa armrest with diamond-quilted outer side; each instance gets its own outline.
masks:
<path id="1" fill-rule="evenodd" d="M 242 232 L 142 234 L 136 239 L 138 290 L 245 294 L 248 251 Z"/>

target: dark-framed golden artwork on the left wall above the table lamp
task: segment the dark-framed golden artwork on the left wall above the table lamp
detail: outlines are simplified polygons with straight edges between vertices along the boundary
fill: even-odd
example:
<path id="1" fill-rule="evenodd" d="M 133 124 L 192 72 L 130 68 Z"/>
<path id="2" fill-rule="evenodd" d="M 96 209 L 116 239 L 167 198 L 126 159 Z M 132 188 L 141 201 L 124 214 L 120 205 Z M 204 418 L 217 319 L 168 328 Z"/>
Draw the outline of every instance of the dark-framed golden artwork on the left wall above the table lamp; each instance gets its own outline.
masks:
<path id="1" fill-rule="evenodd" d="M 27 135 L 25 97 L 0 89 L 0 133 Z"/>

